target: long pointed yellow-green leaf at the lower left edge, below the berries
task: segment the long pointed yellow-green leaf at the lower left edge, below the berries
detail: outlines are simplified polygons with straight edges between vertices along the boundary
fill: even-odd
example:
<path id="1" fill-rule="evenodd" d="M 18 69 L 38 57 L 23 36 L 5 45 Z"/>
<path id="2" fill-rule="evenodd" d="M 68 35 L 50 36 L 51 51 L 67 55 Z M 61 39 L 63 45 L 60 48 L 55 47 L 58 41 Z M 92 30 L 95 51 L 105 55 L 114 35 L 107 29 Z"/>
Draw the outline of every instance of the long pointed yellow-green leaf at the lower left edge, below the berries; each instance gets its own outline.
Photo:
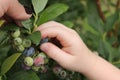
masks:
<path id="1" fill-rule="evenodd" d="M 16 60 L 20 57 L 20 55 L 21 53 L 13 54 L 3 62 L 1 66 L 1 75 L 4 75 L 11 69 L 11 67 L 15 64 Z"/>

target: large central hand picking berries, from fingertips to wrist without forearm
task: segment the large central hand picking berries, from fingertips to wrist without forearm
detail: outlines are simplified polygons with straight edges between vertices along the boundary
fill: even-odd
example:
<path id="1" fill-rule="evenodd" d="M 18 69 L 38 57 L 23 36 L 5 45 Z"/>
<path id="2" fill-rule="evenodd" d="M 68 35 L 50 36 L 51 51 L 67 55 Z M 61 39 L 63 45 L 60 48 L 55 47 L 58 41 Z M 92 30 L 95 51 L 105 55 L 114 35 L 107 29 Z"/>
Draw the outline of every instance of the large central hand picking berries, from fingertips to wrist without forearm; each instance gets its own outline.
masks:
<path id="1" fill-rule="evenodd" d="M 48 56 L 64 68 L 74 71 L 84 68 L 83 60 L 86 59 L 86 54 L 91 51 L 74 30 L 53 21 L 39 26 L 38 29 L 42 33 L 42 38 L 56 38 L 63 46 L 60 49 L 52 43 L 42 44 L 41 50 L 46 52 Z"/>

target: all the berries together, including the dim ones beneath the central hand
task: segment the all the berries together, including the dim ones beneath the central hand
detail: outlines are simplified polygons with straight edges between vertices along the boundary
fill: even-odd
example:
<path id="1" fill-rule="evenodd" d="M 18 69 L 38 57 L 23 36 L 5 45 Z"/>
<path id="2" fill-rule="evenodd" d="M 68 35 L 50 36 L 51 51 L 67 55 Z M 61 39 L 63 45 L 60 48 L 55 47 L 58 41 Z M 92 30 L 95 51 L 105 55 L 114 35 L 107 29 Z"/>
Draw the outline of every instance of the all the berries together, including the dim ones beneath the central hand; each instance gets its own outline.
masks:
<path id="1" fill-rule="evenodd" d="M 25 70 L 33 70 L 35 72 L 46 73 L 48 69 L 61 79 L 71 80 L 74 72 L 67 71 L 61 66 L 58 66 L 56 62 L 49 64 L 49 57 L 39 48 L 32 43 L 30 39 L 27 39 L 20 29 L 15 30 L 11 34 L 13 48 L 16 51 L 22 53 L 22 68 Z M 41 39 L 39 45 L 48 42 L 49 39 Z M 55 63 L 55 64 L 54 64 Z M 57 64 L 57 66 L 56 66 Z"/>

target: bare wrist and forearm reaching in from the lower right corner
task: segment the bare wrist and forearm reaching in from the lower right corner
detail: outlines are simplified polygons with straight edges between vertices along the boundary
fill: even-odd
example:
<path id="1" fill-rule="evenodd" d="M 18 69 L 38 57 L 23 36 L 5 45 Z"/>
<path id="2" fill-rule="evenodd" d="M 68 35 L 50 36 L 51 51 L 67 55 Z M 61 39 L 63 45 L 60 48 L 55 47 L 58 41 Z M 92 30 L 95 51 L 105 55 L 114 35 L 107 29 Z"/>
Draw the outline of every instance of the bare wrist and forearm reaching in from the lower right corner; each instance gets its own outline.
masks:
<path id="1" fill-rule="evenodd" d="M 101 57 L 89 54 L 86 59 L 82 73 L 90 80 L 120 80 L 120 70 Z"/>

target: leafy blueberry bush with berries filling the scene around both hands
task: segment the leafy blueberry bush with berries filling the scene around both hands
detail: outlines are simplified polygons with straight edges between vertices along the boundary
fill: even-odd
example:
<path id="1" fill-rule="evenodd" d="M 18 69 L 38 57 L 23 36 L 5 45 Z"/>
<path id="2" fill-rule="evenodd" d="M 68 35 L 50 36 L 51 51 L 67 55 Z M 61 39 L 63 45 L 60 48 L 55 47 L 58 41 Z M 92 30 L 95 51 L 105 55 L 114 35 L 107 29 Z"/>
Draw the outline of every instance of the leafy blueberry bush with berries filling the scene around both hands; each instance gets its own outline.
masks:
<path id="1" fill-rule="evenodd" d="M 19 1 L 32 17 L 22 27 L 0 20 L 0 80 L 88 80 L 39 49 L 48 41 L 61 46 L 55 39 L 41 39 L 36 31 L 50 20 L 76 30 L 92 51 L 120 67 L 120 0 Z"/>

